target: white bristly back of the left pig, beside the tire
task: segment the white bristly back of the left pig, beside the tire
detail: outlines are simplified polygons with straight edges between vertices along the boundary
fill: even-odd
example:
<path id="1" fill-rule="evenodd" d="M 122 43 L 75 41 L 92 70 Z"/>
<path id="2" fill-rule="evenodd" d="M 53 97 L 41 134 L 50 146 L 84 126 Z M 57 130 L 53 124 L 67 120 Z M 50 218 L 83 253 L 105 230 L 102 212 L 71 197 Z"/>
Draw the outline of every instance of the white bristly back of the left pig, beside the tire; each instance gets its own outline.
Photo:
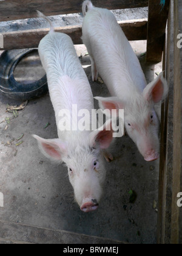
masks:
<path id="1" fill-rule="evenodd" d="M 91 113 L 93 94 L 71 38 L 61 33 L 48 34 L 39 44 L 39 55 L 47 74 L 57 127 L 61 110 L 68 110 L 71 119 L 75 108 Z"/>

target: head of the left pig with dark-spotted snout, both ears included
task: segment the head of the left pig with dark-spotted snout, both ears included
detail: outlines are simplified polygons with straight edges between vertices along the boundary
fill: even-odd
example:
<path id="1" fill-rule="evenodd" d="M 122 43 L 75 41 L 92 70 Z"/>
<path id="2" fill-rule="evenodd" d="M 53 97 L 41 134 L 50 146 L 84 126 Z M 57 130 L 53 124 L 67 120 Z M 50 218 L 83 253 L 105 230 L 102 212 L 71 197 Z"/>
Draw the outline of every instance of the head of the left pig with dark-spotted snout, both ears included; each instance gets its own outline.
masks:
<path id="1" fill-rule="evenodd" d="M 111 121 L 93 132 L 70 131 L 70 140 L 46 140 L 33 135 L 45 157 L 53 162 L 64 162 L 68 169 L 75 201 L 83 212 L 96 210 L 103 192 L 106 176 L 103 150 L 112 142 Z"/>

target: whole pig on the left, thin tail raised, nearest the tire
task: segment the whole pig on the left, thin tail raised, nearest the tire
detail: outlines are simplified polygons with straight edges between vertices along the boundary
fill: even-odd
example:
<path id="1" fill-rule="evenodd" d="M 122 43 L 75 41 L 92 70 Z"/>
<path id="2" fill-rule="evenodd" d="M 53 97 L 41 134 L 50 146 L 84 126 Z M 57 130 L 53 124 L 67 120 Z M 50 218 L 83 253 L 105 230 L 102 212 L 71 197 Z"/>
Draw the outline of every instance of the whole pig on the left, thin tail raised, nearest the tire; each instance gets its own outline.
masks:
<path id="1" fill-rule="evenodd" d="M 60 110 L 69 110 L 72 116 L 73 104 L 77 105 L 78 111 L 86 109 L 91 113 L 94 109 L 93 95 L 71 38 L 66 34 L 54 32 L 50 20 L 42 13 L 39 13 L 39 16 L 51 25 L 49 34 L 39 43 L 38 51 L 47 74 L 50 99 L 59 127 Z M 77 121 L 73 119 L 72 122 Z M 77 126 L 77 123 L 73 126 Z M 112 141 L 113 132 L 112 129 L 109 130 L 109 126 L 110 121 L 104 124 L 103 129 L 93 132 L 58 129 L 58 138 L 49 140 L 33 135 L 46 157 L 58 163 L 66 163 L 76 202 L 83 212 L 96 210 L 101 199 L 106 174 L 103 151 L 107 157 L 105 149 Z"/>

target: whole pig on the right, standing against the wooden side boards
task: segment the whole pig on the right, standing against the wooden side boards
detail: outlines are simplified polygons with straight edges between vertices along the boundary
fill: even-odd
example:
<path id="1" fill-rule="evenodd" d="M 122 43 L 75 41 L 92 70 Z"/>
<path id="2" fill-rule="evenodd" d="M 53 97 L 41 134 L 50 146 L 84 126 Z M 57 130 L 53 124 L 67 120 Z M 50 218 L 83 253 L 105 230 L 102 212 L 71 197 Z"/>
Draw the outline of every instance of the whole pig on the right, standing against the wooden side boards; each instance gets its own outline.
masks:
<path id="1" fill-rule="evenodd" d="M 102 108 L 124 109 L 124 126 L 146 161 L 157 160 L 160 122 L 154 105 L 167 96 L 161 73 L 147 85 L 140 62 L 115 16 L 107 9 L 83 2 L 83 43 L 92 63 L 92 79 L 98 73 L 112 98 L 96 98 Z"/>

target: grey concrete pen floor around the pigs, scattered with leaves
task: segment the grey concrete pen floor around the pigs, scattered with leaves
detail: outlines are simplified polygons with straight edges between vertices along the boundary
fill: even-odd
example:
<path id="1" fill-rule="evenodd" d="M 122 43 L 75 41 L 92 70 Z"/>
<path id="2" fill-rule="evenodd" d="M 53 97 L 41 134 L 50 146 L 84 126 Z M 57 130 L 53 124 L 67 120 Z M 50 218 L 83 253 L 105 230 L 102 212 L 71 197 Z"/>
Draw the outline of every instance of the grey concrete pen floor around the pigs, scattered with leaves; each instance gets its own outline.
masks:
<path id="1" fill-rule="evenodd" d="M 155 73 L 161 71 L 161 63 L 145 63 L 143 53 L 146 52 L 146 41 L 134 41 L 132 47 L 140 58 L 147 82 L 150 82 L 156 77 Z M 109 96 L 106 85 L 92 82 L 89 56 L 85 56 L 86 48 L 76 46 L 76 49 L 78 56 L 83 55 L 81 62 L 93 96 Z M 31 77 L 35 79 L 36 75 L 39 78 L 41 72 L 38 57 L 30 57 L 16 68 L 16 80 L 24 80 L 25 74 L 27 80 L 31 80 Z M 128 243 L 156 243 L 157 206 L 153 207 L 153 204 L 158 199 L 159 162 L 145 162 L 128 136 L 116 140 L 112 149 L 114 161 L 106 163 L 107 179 L 99 208 L 95 212 L 83 213 L 73 200 L 67 168 L 53 165 L 44 158 L 31 136 L 36 134 L 44 138 L 57 137 L 49 93 L 29 101 L 24 110 L 18 112 L 17 118 L 6 111 L 7 104 L 21 103 L 5 98 L 0 93 L 0 192 L 4 194 L 0 222 L 14 223 L 21 227 L 25 224 L 46 230 L 66 230 Z M 160 107 L 158 112 L 160 113 Z M 5 118 L 10 118 L 9 124 Z M 47 123 L 50 125 L 44 128 Z M 22 134 L 23 143 L 16 146 L 16 139 Z M 137 194 L 133 204 L 129 202 L 130 190 Z M 4 226 L 1 227 L 0 243 L 1 239 L 18 239 L 15 227 L 10 228 L 9 232 Z M 27 236 L 29 238 L 21 238 L 21 241 L 31 242 L 30 234 Z M 90 241 L 89 236 L 84 238 L 86 243 Z M 64 243 L 70 241 L 66 238 Z M 79 242 L 82 243 L 83 240 L 77 241 Z"/>

